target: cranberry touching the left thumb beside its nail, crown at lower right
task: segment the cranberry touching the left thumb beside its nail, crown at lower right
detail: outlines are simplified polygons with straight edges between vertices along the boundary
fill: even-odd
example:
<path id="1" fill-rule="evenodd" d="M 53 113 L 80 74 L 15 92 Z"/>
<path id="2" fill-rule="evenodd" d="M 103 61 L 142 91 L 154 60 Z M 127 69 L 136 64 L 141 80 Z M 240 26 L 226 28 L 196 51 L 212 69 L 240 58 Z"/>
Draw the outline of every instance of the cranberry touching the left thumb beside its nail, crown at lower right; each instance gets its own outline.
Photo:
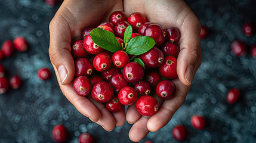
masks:
<path id="1" fill-rule="evenodd" d="M 78 58 L 75 61 L 75 76 L 91 76 L 94 73 L 92 63 L 87 58 Z"/>

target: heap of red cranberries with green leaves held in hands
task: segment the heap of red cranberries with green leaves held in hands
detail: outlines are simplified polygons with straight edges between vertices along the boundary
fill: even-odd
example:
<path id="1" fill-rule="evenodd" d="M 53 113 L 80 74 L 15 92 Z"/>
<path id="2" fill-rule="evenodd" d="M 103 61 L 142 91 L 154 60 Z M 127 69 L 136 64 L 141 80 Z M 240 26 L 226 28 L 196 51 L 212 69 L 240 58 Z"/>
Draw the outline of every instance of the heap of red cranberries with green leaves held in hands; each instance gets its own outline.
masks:
<path id="1" fill-rule="evenodd" d="M 177 77 L 180 52 L 177 28 L 165 30 L 147 22 L 141 13 L 127 18 L 115 11 L 109 22 L 84 29 L 82 38 L 72 44 L 73 89 L 78 95 L 91 94 L 112 112 L 135 103 L 143 116 L 158 111 L 158 101 L 150 96 L 153 92 L 164 100 L 173 97 L 176 88 L 171 79 Z"/>

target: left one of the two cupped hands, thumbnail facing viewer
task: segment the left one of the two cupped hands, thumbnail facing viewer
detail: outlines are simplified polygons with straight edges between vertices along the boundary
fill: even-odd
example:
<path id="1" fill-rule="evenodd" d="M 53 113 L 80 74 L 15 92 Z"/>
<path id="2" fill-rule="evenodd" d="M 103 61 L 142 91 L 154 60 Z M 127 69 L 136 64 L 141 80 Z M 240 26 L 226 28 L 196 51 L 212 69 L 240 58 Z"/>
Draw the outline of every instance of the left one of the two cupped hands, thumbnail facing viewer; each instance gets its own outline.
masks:
<path id="1" fill-rule="evenodd" d="M 49 55 L 61 91 L 79 112 L 110 131 L 125 123 L 124 106 L 116 113 L 106 110 L 104 104 L 82 97 L 73 90 L 75 66 L 70 54 L 72 40 L 82 39 L 82 30 L 108 20 L 113 11 L 123 11 L 121 0 L 66 0 L 51 20 Z"/>

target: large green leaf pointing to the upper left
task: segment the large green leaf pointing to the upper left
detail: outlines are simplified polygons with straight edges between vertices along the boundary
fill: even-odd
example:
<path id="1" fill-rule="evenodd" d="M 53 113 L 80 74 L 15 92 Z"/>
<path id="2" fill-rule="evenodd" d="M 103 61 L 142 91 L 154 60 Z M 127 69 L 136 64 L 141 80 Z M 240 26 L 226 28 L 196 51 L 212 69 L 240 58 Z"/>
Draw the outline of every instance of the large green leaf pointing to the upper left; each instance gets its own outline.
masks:
<path id="1" fill-rule="evenodd" d="M 107 30 L 96 28 L 90 32 L 92 41 L 103 49 L 110 52 L 121 50 L 115 35 Z"/>

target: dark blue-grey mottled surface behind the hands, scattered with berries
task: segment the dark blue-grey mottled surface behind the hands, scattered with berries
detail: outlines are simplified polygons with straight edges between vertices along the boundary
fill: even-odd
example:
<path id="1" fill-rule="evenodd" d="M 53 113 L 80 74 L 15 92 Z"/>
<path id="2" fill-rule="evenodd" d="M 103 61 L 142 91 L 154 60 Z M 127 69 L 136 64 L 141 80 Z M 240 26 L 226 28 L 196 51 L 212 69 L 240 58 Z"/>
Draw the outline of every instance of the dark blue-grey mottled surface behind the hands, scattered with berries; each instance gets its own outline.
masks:
<path id="1" fill-rule="evenodd" d="M 248 47 L 256 43 L 256 35 L 248 38 L 242 32 L 243 23 L 255 23 L 255 1 L 187 3 L 210 30 L 209 36 L 201 41 L 202 66 L 171 122 L 158 132 L 150 132 L 143 141 L 177 142 L 171 130 L 181 123 L 189 130 L 184 142 L 256 142 L 256 58 L 250 54 L 235 57 L 230 51 L 230 43 L 236 39 Z M 46 82 L 36 76 L 41 67 L 53 71 L 48 57 L 48 23 L 55 11 L 57 7 L 48 7 L 41 0 L 0 0 L 0 42 L 24 36 L 31 46 L 29 51 L 16 52 L 1 61 L 8 77 L 18 74 L 23 86 L 0 95 L 0 142 L 53 142 L 51 129 L 58 123 L 69 130 L 70 142 L 78 142 L 81 132 L 92 133 L 97 142 L 131 142 L 128 123 L 112 132 L 104 131 L 66 100 L 55 76 Z M 234 86 L 242 90 L 242 98 L 228 105 L 226 93 Z M 193 114 L 207 117 L 206 129 L 192 128 Z"/>

